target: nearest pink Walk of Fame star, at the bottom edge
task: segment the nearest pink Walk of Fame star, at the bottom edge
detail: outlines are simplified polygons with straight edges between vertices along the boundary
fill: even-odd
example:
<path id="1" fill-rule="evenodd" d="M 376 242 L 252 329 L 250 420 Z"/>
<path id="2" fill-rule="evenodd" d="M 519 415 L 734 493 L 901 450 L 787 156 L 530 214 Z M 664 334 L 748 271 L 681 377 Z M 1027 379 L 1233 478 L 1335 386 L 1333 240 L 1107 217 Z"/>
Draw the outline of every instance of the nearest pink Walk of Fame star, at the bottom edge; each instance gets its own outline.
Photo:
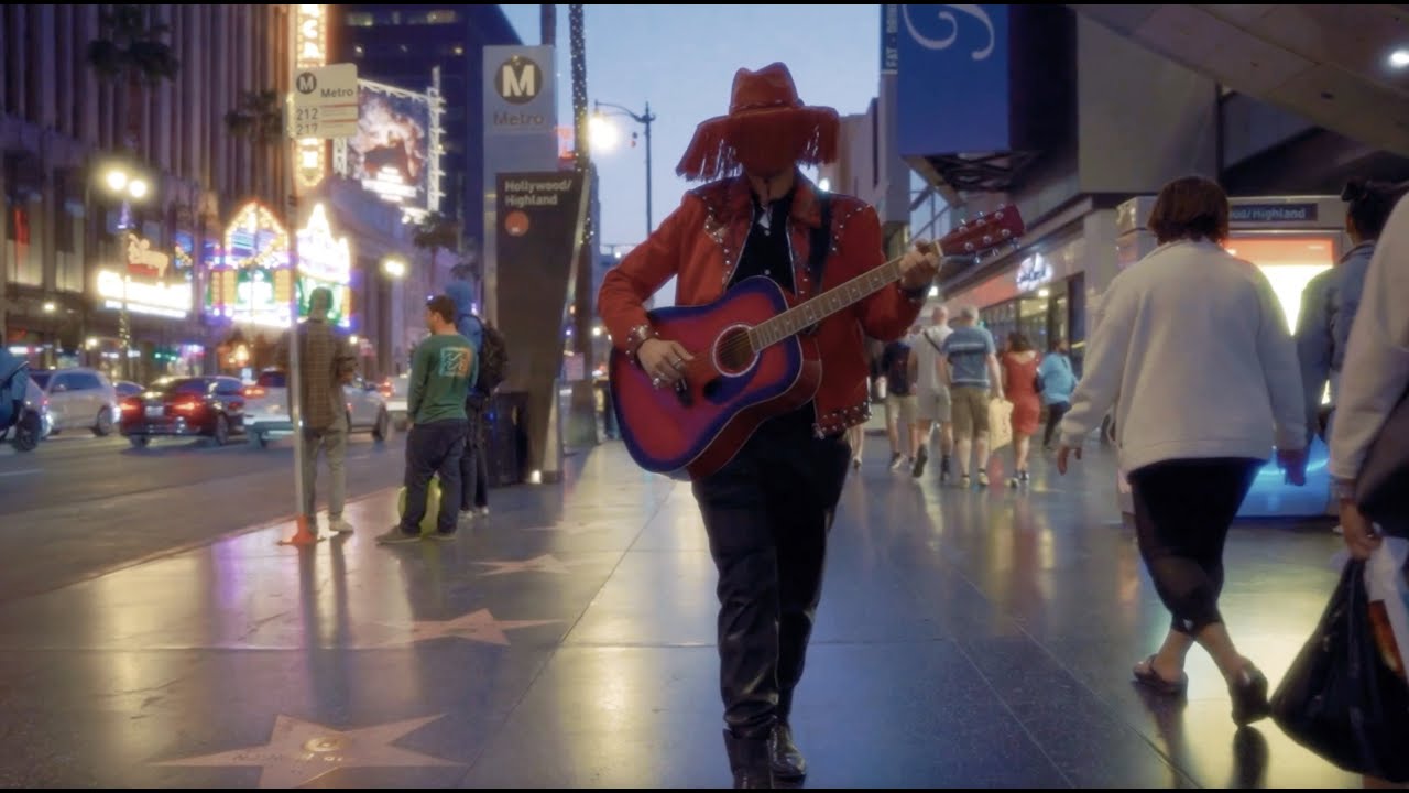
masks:
<path id="1" fill-rule="evenodd" d="M 269 742 L 214 755 L 163 761 L 158 766 L 259 768 L 259 787 L 297 787 L 342 768 L 435 768 L 462 766 L 392 745 L 441 718 L 407 718 L 358 730 L 333 730 L 290 715 L 278 715 Z"/>

